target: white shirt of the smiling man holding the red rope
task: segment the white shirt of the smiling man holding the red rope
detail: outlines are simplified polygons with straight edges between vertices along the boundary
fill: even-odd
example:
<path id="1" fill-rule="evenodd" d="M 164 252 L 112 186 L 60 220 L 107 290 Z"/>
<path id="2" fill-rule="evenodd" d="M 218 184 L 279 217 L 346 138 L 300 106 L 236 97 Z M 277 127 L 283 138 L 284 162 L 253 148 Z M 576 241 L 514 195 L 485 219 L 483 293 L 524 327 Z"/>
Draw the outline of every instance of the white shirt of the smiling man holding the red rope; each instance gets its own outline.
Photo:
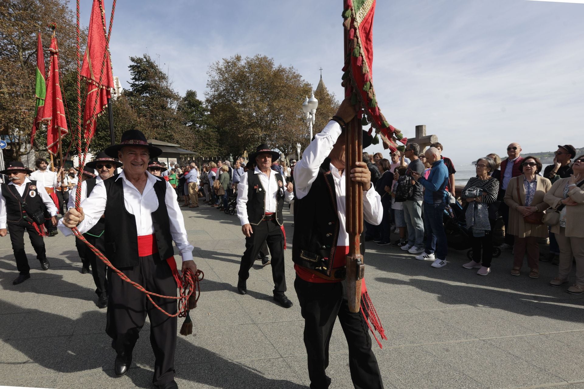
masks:
<path id="1" fill-rule="evenodd" d="M 154 234 L 154 226 L 152 226 L 151 213 L 158 209 L 158 198 L 154 191 L 154 183 L 161 179 L 147 174 L 148 181 L 144 187 L 144 191 L 140 193 L 130 181 L 127 180 L 124 171 L 116 178 L 122 180 L 124 190 L 124 206 L 126 210 L 134 215 L 136 220 L 136 230 L 138 236 Z M 110 178 L 112 180 L 113 178 Z M 85 185 L 82 185 L 83 190 Z M 83 195 L 83 193 L 82 193 Z M 85 213 L 85 219 L 79 223 L 77 229 L 81 233 L 88 232 L 91 227 L 95 226 L 98 220 L 102 217 L 106 210 L 107 193 L 103 181 L 95 185 L 93 191 L 88 198 L 81 201 L 81 208 Z M 176 192 L 171 187 L 171 184 L 166 181 L 166 195 L 165 195 L 166 209 L 168 210 L 168 219 L 171 226 L 172 240 L 175 241 L 183 261 L 193 259 L 193 246 L 189 243 L 186 234 L 185 220 L 182 212 L 180 212 L 179 204 L 176 201 Z M 71 229 L 65 227 L 62 219 L 59 220 L 58 228 L 65 235 L 71 235 Z"/>

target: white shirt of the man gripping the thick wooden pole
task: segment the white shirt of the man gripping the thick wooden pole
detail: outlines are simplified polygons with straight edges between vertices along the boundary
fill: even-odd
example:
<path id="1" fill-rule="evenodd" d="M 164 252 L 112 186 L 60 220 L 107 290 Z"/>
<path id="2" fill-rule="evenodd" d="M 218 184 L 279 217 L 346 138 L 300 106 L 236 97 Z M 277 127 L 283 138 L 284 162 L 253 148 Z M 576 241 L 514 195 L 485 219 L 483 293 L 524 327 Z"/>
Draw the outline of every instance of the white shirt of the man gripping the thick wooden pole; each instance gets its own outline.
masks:
<path id="1" fill-rule="evenodd" d="M 340 125 L 336 121 L 329 121 L 322 132 L 315 135 L 314 141 L 304 150 L 302 159 L 294 166 L 294 187 L 296 197 L 303 198 L 308 194 L 312 183 L 318 176 L 318 171 L 326 157 L 331 153 L 336 139 L 341 133 Z M 339 173 L 331 164 L 331 174 L 335 181 L 336 208 L 339 216 L 339 237 L 336 241 L 338 246 L 349 246 L 349 235 L 346 232 L 346 199 L 345 199 L 345 177 Z M 345 172 L 343 171 L 343 174 Z M 372 225 L 380 225 L 383 219 L 383 206 L 381 197 L 376 192 L 373 185 L 367 191 L 363 191 L 363 217 Z"/>

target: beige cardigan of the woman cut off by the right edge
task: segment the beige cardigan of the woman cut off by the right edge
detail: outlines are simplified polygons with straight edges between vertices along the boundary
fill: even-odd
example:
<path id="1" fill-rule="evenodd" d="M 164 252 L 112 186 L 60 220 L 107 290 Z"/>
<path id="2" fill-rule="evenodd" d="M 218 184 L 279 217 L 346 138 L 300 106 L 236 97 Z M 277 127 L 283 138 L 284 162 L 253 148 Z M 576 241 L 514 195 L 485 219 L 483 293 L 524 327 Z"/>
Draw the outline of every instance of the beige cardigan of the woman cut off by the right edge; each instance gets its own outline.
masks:
<path id="1" fill-rule="evenodd" d="M 561 201 L 564 199 L 564 188 L 570 180 L 568 178 L 560 178 L 555 181 L 550 191 L 545 194 L 544 201 L 551 206 L 551 208 L 558 208 Z M 566 205 L 566 236 L 584 238 L 584 190 L 578 187 L 572 187 L 568 191 L 568 197 L 577 202 L 578 205 Z M 559 234 L 559 224 L 551 227 L 551 232 Z"/>

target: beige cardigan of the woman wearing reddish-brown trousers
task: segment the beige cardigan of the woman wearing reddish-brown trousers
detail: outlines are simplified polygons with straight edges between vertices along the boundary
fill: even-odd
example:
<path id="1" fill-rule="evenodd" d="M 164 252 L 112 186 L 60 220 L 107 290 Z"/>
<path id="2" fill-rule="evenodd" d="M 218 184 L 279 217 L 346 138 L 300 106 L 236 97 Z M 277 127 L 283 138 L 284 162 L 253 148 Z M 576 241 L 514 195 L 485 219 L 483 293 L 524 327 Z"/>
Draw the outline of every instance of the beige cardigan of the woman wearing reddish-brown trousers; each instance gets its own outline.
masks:
<path id="1" fill-rule="evenodd" d="M 507 191 L 505 192 L 505 204 L 509 206 L 509 228 L 506 233 L 515 235 L 520 238 L 528 236 L 536 236 L 538 238 L 547 238 L 548 227 L 544 224 L 536 225 L 523 221 L 523 215 L 517 211 L 519 207 L 519 199 L 517 198 L 517 184 L 519 185 L 519 195 L 521 196 L 521 204 L 525 205 L 525 188 L 523 187 L 523 174 L 519 177 L 511 178 Z M 548 208 L 547 202 L 544 201 L 545 193 L 550 190 L 551 182 L 547 178 L 537 176 L 536 193 L 533 195 L 531 206 L 537 206 L 540 211 L 545 211 Z"/>

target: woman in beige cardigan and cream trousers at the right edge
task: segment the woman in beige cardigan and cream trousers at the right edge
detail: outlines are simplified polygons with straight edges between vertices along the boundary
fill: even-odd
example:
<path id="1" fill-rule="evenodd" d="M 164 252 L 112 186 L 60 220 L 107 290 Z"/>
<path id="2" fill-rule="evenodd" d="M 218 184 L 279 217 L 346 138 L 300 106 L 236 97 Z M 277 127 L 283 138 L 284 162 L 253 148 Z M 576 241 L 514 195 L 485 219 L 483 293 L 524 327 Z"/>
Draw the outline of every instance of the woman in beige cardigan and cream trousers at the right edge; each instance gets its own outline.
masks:
<path id="1" fill-rule="evenodd" d="M 550 285 L 568 284 L 572 258 L 575 258 L 576 282 L 568 288 L 568 293 L 580 295 L 584 292 L 584 155 L 574 160 L 572 170 L 571 177 L 555 181 L 544 199 L 559 211 L 559 223 L 551 227 L 559 244 L 558 276 Z"/>

